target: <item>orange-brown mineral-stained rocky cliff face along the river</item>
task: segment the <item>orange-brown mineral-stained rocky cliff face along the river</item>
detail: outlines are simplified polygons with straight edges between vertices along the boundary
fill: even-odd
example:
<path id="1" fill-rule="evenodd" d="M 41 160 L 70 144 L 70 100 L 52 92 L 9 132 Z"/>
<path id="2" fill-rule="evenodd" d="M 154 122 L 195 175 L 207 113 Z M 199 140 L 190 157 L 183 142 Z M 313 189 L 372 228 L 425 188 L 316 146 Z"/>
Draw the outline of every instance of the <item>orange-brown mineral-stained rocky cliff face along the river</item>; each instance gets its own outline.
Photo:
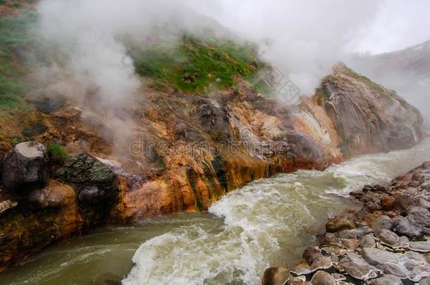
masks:
<path id="1" fill-rule="evenodd" d="M 99 225 L 207 210 L 254 179 L 324 170 L 360 153 L 407 148 L 422 139 L 414 107 L 344 66 L 295 108 L 237 83 L 204 96 L 147 90 L 148 99 L 128 110 L 132 131 L 115 145 L 109 135 L 97 136 L 102 118 L 84 120 L 86 110 L 44 116 L 46 130 L 30 139 L 55 137 L 75 154 L 60 169 L 49 169 L 39 187 L 1 190 L 0 248 L 6 254 L 0 270 Z M 4 177 L 11 171 L 4 167 Z"/>

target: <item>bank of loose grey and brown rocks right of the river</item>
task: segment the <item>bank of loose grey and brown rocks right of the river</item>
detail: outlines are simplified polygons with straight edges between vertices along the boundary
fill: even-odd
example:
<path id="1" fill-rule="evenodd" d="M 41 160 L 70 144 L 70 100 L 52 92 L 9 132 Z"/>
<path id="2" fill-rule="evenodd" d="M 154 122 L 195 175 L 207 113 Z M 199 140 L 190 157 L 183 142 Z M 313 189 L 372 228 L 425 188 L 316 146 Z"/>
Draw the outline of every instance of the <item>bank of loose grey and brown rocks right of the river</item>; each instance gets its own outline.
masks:
<path id="1" fill-rule="evenodd" d="M 430 162 L 351 198 L 362 209 L 334 217 L 300 264 L 269 267 L 269 284 L 430 284 Z"/>

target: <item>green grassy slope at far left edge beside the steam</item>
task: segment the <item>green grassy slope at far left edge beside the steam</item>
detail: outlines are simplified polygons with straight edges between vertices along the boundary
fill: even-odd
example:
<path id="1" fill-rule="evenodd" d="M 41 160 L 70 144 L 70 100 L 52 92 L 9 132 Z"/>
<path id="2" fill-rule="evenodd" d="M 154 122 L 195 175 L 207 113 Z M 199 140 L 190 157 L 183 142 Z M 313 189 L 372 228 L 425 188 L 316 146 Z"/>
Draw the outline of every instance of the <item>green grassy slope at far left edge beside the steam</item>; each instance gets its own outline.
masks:
<path id="1" fill-rule="evenodd" d="M 35 13 L 21 11 L 18 16 L 0 18 L 0 109 L 23 108 L 20 96 L 25 92 L 25 71 L 22 58 L 30 44 L 28 27 L 35 22 Z"/>

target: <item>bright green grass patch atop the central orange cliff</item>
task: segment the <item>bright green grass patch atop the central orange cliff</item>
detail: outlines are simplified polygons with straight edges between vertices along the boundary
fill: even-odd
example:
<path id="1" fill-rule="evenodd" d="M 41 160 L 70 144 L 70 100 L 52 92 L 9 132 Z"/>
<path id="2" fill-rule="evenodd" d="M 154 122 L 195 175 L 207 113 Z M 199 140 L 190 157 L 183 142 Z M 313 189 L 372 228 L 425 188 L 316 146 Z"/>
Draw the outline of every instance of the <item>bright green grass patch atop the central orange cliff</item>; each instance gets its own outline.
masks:
<path id="1" fill-rule="evenodd" d="M 189 34 L 183 35 L 178 45 L 154 44 L 147 49 L 131 51 L 130 55 L 137 74 L 154 79 L 156 86 L 168 84 L 189 94 L 234 87 L 235 77 L 254 79 L 258 70 L 265 66 L 250 44 L 197 39 Z M 269 90 L 262 82 L 254 87 L 262 93 Z"/>

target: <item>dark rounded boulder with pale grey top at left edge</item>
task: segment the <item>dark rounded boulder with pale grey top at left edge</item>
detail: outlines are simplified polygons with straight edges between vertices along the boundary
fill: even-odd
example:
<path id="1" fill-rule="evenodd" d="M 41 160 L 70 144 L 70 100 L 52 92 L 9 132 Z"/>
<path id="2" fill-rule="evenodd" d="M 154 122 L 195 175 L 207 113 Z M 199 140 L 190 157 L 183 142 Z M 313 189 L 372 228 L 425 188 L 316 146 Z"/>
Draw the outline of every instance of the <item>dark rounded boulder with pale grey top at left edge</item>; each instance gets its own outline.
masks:
<path id="1" fill-rule="evenodd" d="M 34 189 L 47 182 L 47 150 L 37 141 L 14 146 L 2 165 L 3 184 L 6 189 Z"/>

